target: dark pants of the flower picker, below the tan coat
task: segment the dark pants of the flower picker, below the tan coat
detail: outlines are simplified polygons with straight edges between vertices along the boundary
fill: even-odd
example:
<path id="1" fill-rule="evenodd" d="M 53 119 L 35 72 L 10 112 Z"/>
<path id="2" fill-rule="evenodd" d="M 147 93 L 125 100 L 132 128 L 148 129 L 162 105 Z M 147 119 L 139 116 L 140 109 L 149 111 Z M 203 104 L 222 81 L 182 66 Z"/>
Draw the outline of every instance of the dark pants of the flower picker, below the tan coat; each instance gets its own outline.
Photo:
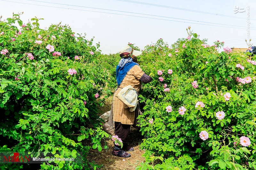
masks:
<path id="1" fill-rule="evenodd" d="M 130 132 L 131 124 L 121 124 L 121 122 L 115 122 L 115 134 L 118 138 L 121 138 L 123 144 L 127 141 L 129 132 Z M 121 149 L 120 146 L 115 145 L 115 149 Z"/>

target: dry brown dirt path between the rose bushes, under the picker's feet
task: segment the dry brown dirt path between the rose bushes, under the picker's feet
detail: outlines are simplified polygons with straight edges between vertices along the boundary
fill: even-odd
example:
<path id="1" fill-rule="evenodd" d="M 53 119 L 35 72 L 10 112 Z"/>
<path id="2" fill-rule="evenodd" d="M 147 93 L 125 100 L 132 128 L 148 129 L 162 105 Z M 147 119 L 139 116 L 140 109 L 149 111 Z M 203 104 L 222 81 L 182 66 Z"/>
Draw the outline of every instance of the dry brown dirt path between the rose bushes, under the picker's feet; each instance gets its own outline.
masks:
<path id="1" fill-rule="evenodd" d="M 106 100 L 103 107 L 99 108 L 99 116 L 103 113 L 111 110 L 111 99 Z M 114 144 L 112 140 L 107 140 L 108 149 L 102 149 L 99 152 L 97 149 L 91 149 L 87 156 L 89 162 L 95 162 L 95 164 L 102 165 L 100 170 L 134 170 L 136 166 L 144 162 L 145 159 L 141 156 L 144 151 L 140 150 L 140 143 L 142 142 L 142 136 L 140 131 L 131 127 L 129 139 L 127 143 L 134 148 L 134 151 L 129 152 L 131 157 L 119 158 L 112 155 Z M 104 142 L 102 143 L 104 145 Z"/>

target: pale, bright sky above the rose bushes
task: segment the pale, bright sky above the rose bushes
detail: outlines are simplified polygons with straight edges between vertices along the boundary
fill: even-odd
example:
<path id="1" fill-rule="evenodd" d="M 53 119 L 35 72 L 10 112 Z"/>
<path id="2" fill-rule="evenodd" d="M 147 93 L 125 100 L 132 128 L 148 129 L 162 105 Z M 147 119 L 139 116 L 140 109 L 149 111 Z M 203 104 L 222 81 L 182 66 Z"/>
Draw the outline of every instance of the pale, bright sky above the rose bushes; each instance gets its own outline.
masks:
<path id="1" fill-rule="evenodd" d="M 220 26 L 212 26 L 214 24 L 208 25 L 197 25 L 186 20 L 172 19 L 172 18 L 181 18 L 195 21 L 227 24 L 227 25 L 238 25 L 238 26 L 247 26 L 246 23 L 246 12 L 237 12 L 234 13 L 234 6 L 239 8 L 244 8 L 250 6 L 250 18 L 251 18 L 251 28 L 256 28 L 256 1 L 247 1 L 247 0 L 215 0 L 215 1 L 191 1 L 191 0 L 180 0 L 180 1 L 167 1 L 167 0 L 140 0 L 136 2 L 158 4 L 164 6 L 171 6 L 176 8 L 183 8 L 195 11 L 204 11 L 215 14 L 228 15 L 233 17 L 240 18 L 230 18 L 218 15 L 209 15 L 205 13 L 198 13 L 192 11 L 185 11 L 172 8 L 164 8 L 159 6 L 152 6 L 146 4 L 138 4 L 131 2 L 124 2 L 118 0 L 38 0 L 42 2 L 35 2 L 29 0 L 8 0 L 13 2 L 7 2 L 0 0 L 1 11 L 0 15 L 3 16 L 3 19 L 12 16 L 12 12 L 21 12 L 24 11 L 24 14 L 21 16 L 23 22 L 27 23 L 33 17 L 44 18 L 40 21 L 42 28 L 46 28 L 51 24 L 57 24 L 60 21 L 62 24 L 68 24 L 71 26 L 72 30 L 76 33 L 86 33 L 87 39 L 95 37 L 94 43 L 100 42 L 100 49 L 102 53 L 117 53 L 119 50 L 126 46 L 128 42 L 135 43 L 136 46 L 144 48 L 147 44 L 151 42 L 156 42 L 157 39 L 163 38 L 168 44 L 172 44 L 178 38 L 187 37 L 186 28 L 188 25 L 194 30 L 194 32 L 200 34 L 200 38 L 208 39 L 208 44 L 212 45 L 213 41 L 219 39 L 220 41 L 225 41 L 224 46 L 228 47 L 241 47 L 246 48 L 246 43 L 244 39 L 246 38 L 246 28 L 237 29 L 237 28 L 227 28 Z M 27 3 L 27 4 L 19 4 Z M 47 3 L 43 3 L 47 2 Z M 60 3 L 60 4 L 52 4 Z M 36 6 L 37 5 L 46 5 L 46 6 Z M 61 5 L 69 4 L 69 5 Z M 77 7 L 71 6 L 77 5 Z M 132 14 L 125 12 L 117 11 L 107 11 L 100 9 L 84 8 L 78 6 L 86 6 L 92 8 L 102 8 L 109 10 L 117 11 L 127 11 L 135 13 L 143 13 L 150 15 L 158 15 L 164 17 L 172 18 L 161 18 L 154 16 L 146 16 L 140 14 Z M 60 7 L 60 8 L 54 8 Z M 68 9 L 66 9 L 68 8 Z M 78 11 L 79 10 L 90 10 L 90 11 Z M 150 18 L 139 18 L 132 16 L 123 16 L 115 15 L 108 13 L 98 13 L 91 11 L 101 11 L 101 12 L 110 12 L 118 13 L 125 15 L 136 15 L 142 17 Z M 157 20 L 151 18 L 161 18 L 168 20 L 176 20 L 182 22 L 174 22 L 167 20 Z M 2 20 L 3 20 L 2 19 Z M 193 22 L 195 23 L 195 22 Z M 197 22 L 201 23 L 201 22 Z M 207 23 L 201 23 L 207 24 Z M 225 26 L 225 25 L 223 25 Z M 230 26 L 233 27 L 233 26 Z M 256 45 L 256 29 L 250 30 L 250 37 L 252 42 Z"/>

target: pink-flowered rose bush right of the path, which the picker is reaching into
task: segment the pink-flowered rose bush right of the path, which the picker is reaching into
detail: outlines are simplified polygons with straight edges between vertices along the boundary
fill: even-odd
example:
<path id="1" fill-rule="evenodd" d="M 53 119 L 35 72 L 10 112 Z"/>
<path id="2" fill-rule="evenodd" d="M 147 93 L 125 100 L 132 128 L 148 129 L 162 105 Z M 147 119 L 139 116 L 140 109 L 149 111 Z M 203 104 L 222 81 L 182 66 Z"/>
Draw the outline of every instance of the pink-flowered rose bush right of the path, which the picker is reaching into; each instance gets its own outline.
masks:
<path id="1" fill-rule="evenodd" d="M 147 162 L 137 169 L 256 169 L 255 57 L 218 53 L 224 42 L 207 45 L 190 28 L 188 36 L 174 49 L 159 39 L 140 58 L 154 80 L 140 95 Z"/>

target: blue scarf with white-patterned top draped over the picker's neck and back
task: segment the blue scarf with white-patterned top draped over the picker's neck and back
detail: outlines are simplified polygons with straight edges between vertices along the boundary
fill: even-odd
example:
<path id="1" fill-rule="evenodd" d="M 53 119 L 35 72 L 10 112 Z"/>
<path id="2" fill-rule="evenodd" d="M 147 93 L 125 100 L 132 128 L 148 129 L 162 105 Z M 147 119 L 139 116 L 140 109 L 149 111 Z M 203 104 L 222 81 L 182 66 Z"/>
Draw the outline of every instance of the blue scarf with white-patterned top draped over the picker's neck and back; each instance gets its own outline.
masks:
<path id="1" fill-rule="evenodd" d="M 121 59 L 119 64 L 116 66 L 116 81 L 117 85 L 119 86 L 121 82 L 124 80 L 124 77 L 128 73 L 128 71 L 135 65 L 139 65 L 135 63 L 131 57 L 126 59 Z"/>

